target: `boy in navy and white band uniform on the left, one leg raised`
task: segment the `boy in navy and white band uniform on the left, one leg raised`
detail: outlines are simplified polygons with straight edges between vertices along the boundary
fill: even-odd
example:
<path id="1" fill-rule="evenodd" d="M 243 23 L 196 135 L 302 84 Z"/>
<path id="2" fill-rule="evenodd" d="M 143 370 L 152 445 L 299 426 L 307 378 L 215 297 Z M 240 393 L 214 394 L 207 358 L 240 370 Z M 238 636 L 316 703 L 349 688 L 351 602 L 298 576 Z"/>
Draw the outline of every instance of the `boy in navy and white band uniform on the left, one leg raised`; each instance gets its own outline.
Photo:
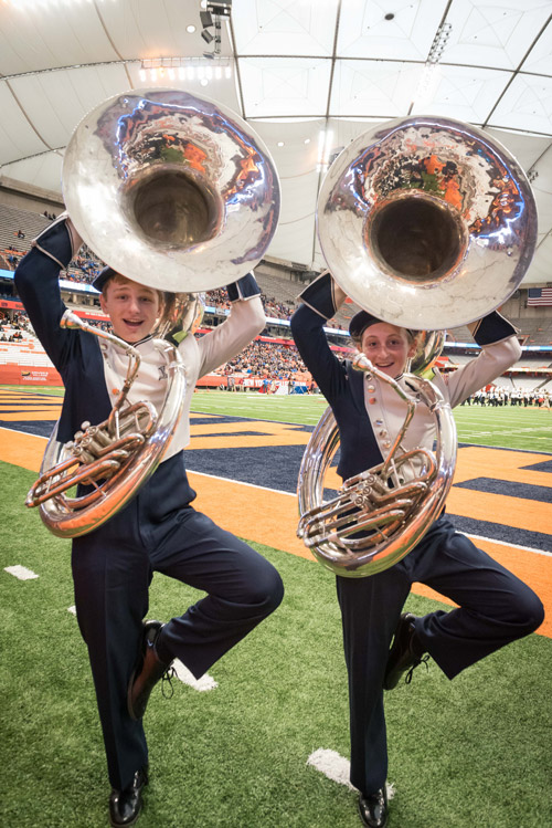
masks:
<path id="1" fill-rule="evenodd" d="M 104 421 L 125 380 L 126 354 L 110 342 L 62 329 L 65 311 L 60 270 L 81 247 L 66 214 L 32 243 L 15 273 L 15 285 L 32 325 L 62 375 L 65 398 L 59 439 L 71 440 L 83 421 Z M 130 401 L 164 397 L 162 357 L 151 331 L 163 295 L 115 273 L 94 282 L 114 333 L 141 355 Z M 253 274 L 227 287 L 232 312 L 201 339 L 185 336 L 179 350 L 187 369 L 184 412 L 157 471 L 107 523 L 73 539 L 75 604 L 87 644 L 104 734 L 112 826 L 129 826 L 142 807 L 148 750 L 142 716 L 153 685 L 180 659 L 195 678 L 244 638 L 279 605 L 276 569 L 250 546 L 221 530 L 192 505 L 183 448 L 189 442 L 190 402 L 199 377 L 235 356 L 263 329 L 265 315 Z M 182 616 L 144 622 L 155 572 L 206 596 Z M 86 816 L 78 820 L 86 822 Z"/>

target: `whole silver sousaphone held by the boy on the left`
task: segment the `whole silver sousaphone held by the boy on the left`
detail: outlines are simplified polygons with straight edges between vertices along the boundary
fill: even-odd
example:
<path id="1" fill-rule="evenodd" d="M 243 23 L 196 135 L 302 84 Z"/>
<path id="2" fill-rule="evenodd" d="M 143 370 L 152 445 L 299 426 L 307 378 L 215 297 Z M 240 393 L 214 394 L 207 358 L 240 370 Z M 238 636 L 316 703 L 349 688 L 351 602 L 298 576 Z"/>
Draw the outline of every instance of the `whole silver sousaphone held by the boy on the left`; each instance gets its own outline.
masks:
<path id="1" fill-rule="evenodd" d="M 170 314 L 161 328 L 178 331 L 178 340 L 197 324 L 199 293 L 235 282 L 259 262 L 279 213 L 278 177 L 261 138 L 227 107 L 182 90 L 130 91 L 86 115 L 65 151 L 63 195 L 100 259 L 164 292 Z M 55 535 L 76 537 L 109 520 L 161 462 L 182 412 L 185 370 L 178 349 L 156 339 L 169 377 L 156 411 L 149 401 L 130 401 L 136 348 L 71 312 L 62 326 L 110 339 L 129 358 L 107 420 L 83 423 L 66 444 L 54 431 L 28 496 Z M 72 492 L 76 485 L 84 489 Z"/>

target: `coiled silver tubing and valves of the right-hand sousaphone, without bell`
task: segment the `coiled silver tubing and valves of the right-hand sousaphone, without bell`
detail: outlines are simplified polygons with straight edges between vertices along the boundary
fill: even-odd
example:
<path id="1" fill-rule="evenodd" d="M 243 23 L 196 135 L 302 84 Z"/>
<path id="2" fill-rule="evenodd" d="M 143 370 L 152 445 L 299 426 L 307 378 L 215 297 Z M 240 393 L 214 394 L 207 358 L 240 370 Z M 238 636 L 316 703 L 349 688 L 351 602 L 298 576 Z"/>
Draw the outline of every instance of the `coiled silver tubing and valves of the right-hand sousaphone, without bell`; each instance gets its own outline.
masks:
<path id="1" fill-rule="evenodd" d="M 406 403 L 405 419 L 384 462 L 344 481 L 338 494 L 325 501 L 325 476 L 339 446 L 333 412 L 326 409 L 299 470 L 297 534 L 327 569 L 362 578 L 399 563 L 438 517 L 453 482 L 457 441 L 450 406 L 433 382 L 405 375 L 405 392 L 363 354 L 353 364 L 392 386 Z M 402 446 L 418 405 L 426 406 L 434 419 L 434 451 L 406 451 Z"/>

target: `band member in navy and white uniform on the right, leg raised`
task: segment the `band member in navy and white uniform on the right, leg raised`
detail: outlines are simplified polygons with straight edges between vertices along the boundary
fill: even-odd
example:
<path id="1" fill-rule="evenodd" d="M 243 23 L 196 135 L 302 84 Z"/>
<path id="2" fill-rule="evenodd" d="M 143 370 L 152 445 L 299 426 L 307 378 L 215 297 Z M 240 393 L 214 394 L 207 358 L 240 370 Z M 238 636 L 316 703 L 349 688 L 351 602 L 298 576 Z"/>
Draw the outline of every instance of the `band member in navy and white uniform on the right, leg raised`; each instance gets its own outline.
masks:
<path id="1" fill-rule="evenodd" d="M 341 448 L 338 474 L 347 480 L 383 462 L 404 421 L 406 403 L 388 384 L 375 376 L 369 380 L 365 373 L 353 370 L 350 361 L 341 363 L 331 352 L 323 326 L 346 296 L 329 273 L 299 298 L 302 304 L 291 318 L 293 335 L 336 417 Z M 453 374 L 434 371 L 433 381 L 453 407 L 492 381 L 521 353 L 516 329 L 498 313 L 470 329 L 482 348 L 480 355 Z M 351 319 L 350 334 L 376 368 L 401 382 L 416 350 L 415 332 L 361 311 Z M 405 436 L 406 449 L 433 447 L 433 419 L 424 408 L 416 407 Z M 410 444 L 407 438 L 415 443 Z M 420 618 L 401 614 L 414 581 L 427 584 L 458 608 Z M 351 783 L 360 794 L 362 822 L 383 828 L 388 824 L 383 691 L 395 688 L 406 671 L 429 656 L 454 679 L 535 630 L 543 620 L 543 607 L 526 584 L 455 532 L 445 514 L 389 569 L 364 578 L 338 576 L 337 595 L 349 675 Z"/>

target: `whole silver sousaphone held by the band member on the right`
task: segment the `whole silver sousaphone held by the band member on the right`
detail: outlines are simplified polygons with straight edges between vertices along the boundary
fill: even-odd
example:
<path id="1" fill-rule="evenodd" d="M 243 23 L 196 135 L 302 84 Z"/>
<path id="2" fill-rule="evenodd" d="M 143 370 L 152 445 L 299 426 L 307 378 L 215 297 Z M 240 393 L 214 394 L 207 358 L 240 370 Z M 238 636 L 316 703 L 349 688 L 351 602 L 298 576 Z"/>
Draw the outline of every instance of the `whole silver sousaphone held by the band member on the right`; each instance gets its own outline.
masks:
<path id="1" fill-rule="evenodd" d="M 517 290 L 537 241 L 537 209 L 516 159 L 476 127 L 453 119 L 393 120 L 358 137 L 330 167 L 317 209 L 327 264 L 342 290 L 378 318 L 444 332 L 495 311 Z M 435 342 L 444 340 L 443 333 Z M 383 463 L 343 482 L 325 478 L 339 447 L 328 409 L 305 451 L 298 535 L 333 573 L 365 577 L 401 560 L 439 515 L 452 485 L 450 406 L 423 374 L 395 380 L 363 356 L 355 367 L 390 384 L 404 423 Z M 435 449 L 405 448 L 418 405 L 434 419 Z"/>

